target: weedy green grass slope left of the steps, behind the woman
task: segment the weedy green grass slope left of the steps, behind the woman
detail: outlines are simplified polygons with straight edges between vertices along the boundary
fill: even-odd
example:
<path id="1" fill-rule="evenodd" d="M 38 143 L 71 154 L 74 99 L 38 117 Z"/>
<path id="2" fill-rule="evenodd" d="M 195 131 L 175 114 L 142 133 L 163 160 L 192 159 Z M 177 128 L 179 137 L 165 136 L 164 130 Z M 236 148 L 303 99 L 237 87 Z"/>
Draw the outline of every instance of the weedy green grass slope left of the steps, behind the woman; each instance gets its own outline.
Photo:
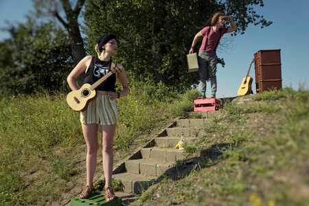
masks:
<path id="1" fill-rule="evenodd" d="M 179 95 L 152 82 L 130 85 L 130 95 L 117 100 L 115 152 L 125 157 L 141 146 L 145 135 L 190 110 L 195 94 Z M 0 100 L 0 205 L 49 205 L 63 198 L 68 185 L 84 179 L 85 147 L 78 119 L 63 93 Z"/>

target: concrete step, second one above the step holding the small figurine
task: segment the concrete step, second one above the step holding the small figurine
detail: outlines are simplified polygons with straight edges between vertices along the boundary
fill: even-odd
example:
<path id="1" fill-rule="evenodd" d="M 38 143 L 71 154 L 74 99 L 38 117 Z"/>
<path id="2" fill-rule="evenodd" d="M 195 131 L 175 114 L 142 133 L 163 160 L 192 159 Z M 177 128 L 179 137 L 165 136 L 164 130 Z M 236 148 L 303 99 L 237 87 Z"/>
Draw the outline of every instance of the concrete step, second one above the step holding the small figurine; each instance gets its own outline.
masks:
<path id="1" fill-rule="evenodd" d="M 202 137 L 206 135 L 205 128 L 195 127 L 166 128 L 166 133 L 168 133 L 168 137 L 181 137 L 181 133 L 183 133 L 184 137 Z"/>

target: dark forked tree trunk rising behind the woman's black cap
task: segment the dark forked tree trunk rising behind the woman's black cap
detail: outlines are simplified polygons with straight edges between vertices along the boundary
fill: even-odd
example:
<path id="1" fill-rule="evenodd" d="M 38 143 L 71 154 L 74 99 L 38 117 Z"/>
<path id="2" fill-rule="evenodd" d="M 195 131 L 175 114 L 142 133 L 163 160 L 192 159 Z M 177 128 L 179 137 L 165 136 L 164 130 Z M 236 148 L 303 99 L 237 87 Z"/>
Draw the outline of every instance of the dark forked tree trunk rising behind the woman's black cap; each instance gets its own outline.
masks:
<path id="1" fill-rule="evenodd" d="M 33 0 L 34 8 L 38 16 L 54 16 L 65 27 L 69 34 L 69 43 L 73 54 L 73 60 L 77 64 L 84 56 L 84 43 L 80 34 L 78 16 L 85 0 L 77 0 L 74 8 L 69 0 Z M 65 13 L 65 17 L 62 13 Z"/>

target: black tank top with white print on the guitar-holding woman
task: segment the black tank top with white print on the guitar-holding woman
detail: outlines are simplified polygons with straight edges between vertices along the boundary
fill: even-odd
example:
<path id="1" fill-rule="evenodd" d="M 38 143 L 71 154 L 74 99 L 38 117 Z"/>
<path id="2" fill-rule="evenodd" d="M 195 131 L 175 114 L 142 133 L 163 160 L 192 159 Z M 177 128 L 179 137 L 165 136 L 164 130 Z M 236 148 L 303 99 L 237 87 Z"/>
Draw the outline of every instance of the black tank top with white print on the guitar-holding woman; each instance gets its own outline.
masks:
<path id="1" fill-rule="evenodd" d="M 109 71 L 111 71 L 111 62 L 102 61 L 95 56 L 92 57 L 91 63 L 87 69 L 87 72 L 84 74 L 84 79 L 82 84 L 93 84 L 98 81 L 102 76 L 106 75 Z M 107 78 L 104 82 L 102 82 L 95 90 L 100 91 L 115 91 L 115 82 L 116 82 L 116 74 L 113 73 L 109 78 Z"/>

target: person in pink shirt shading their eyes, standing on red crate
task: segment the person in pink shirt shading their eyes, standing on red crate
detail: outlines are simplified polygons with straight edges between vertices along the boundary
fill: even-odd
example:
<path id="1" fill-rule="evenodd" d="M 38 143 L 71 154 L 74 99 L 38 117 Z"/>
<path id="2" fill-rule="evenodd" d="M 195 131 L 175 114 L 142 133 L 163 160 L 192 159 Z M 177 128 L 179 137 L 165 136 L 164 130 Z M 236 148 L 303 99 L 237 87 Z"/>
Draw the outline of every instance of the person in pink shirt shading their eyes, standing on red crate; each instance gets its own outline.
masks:
<path id="1" fill-rule="evenodd" d="M 231 27 L 224 27 L 226 21 L 231 23 Z M 199 73 L 201 78 L 198 87 L 202 98 L 206 98 L 206 82 L 209 80 L 211 84 L 211 98 L 216 98 L 216 65 L 218 63 L 216 49 L 223 34 L 235 31 L 236 27 L 236 23 L 231 19 L 231 16 L 225 16 L 222 12 L 216 12 L 211 17 L 210 26 L 204 27 L 194 36 L 189 54 L 194 52 L 194 46 L 198 38 L 203 37 L 202 45 L 198 52 L 198 66 L 200 67 Z"/>

